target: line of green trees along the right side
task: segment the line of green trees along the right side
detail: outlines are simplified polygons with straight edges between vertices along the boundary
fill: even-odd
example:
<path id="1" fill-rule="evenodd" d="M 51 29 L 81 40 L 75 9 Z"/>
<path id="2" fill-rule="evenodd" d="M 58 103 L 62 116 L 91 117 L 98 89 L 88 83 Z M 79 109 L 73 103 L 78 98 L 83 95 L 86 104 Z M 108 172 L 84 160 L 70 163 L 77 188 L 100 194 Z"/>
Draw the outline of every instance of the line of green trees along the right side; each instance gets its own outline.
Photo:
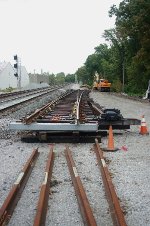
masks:
<path id="1" fill-rule="evenodd" d="M 142 95 L 150 80 L 150 1 L 123 0 L 110 8 L 109 16 L 116 20 L 103 33 L 108 44 L 95 47 L 75 74 L 92 85 L 97 71 L 114 91 Z"/>

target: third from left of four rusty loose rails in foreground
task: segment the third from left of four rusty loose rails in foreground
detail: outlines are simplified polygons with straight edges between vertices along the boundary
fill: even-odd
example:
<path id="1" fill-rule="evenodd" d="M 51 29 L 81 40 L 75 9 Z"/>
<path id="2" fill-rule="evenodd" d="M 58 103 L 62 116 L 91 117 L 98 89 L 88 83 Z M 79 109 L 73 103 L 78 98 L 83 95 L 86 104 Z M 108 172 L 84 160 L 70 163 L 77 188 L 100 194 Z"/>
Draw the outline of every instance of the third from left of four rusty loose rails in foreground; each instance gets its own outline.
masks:
<path id="1" fill-rule="evenodd" d="M 74 185 L 74 189 L 75 189 L 75 193 L 76 193 L 76 197 L 78 200 L 78 204 L 79 204 L 79 208 L 81 211 L 84 225 L 96 226 L 97 224 L 96 224 L 95 218 L 93 216 L 92 209 L 91 209 L 89 201 L 87 199 L 81 179 L 78 175 L 75 163 L 74 163 L 72 155 L 71 155 L 71 151 L 68 147 L 66 147 L 66 149 L 65 149 L 65 156 L 67 159 L 67 164 L 68 164 L 69 171 L 71 174 L 71 179 L 72 179 L 72 182 Z"/>

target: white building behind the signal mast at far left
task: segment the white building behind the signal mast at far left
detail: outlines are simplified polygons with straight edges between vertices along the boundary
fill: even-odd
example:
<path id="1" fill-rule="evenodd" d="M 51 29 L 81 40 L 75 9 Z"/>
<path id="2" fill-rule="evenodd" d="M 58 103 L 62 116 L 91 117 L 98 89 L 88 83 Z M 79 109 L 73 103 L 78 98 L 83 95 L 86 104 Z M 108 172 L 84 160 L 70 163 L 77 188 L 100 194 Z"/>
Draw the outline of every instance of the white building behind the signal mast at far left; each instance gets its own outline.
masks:
<path id="1" fill-rule="evenodd" d="M 17 88 L 17 77 L 10 62 L 0 62 L 0 89 Z M 21 66 L 21 87 L 29 84 L 29 76 L 24 66 Z"/>

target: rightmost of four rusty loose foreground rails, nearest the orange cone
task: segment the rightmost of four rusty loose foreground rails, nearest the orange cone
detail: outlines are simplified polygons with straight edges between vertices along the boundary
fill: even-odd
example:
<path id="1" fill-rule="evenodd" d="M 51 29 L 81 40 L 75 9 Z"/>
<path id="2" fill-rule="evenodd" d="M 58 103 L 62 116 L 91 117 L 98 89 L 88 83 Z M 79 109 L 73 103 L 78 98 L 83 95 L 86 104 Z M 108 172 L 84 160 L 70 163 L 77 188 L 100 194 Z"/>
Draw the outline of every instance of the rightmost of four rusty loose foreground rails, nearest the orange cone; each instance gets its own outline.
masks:
<path id="1" fill-rule="evenodd" d="M 103 151 L 100 148 L 98 140 L 95 139 L 94 150 L 97 156 L 98 165 L 101 170 L 105 193 L 109 203 L 111 217 L 114 226 L 127 226 L 115 188 L 113 186 L 108 167 L 103 157 Z"/>

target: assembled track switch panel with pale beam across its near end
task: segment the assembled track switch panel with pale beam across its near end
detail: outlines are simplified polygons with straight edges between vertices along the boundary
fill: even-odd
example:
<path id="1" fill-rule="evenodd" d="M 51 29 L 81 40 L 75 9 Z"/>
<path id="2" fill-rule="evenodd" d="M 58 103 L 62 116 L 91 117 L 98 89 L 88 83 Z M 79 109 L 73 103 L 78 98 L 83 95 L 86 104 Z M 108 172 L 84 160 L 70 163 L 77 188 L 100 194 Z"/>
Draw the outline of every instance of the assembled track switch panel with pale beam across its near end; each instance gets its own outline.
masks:
<path id="1" fill-rule="evenodd" d="M 10 129 L 34 132 L 40 140 L 48 140 L 56 132 L 84 135 L 107 130 L 110 125 L 113 129 L 129 129 L 130 125 L 140 125 L 140 120 L 124 118 L 118 109 L 104 109 L 96 105 L 89 98 L 89 92 L 67 90 L 31 115 L 11 122 Z"/>

